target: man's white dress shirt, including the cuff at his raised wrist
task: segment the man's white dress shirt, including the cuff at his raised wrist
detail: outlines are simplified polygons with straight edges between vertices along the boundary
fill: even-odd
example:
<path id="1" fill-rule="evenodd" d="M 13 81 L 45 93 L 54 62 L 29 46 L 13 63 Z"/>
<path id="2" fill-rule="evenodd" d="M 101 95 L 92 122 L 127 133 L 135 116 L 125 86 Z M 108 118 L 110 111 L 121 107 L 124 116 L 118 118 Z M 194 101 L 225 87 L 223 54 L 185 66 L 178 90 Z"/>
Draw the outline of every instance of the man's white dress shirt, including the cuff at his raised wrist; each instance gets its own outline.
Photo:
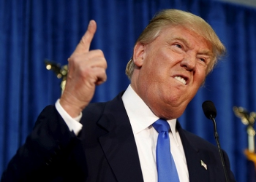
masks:
<path id="1" fill-rule="evenodd" d="M 156 122 L 159 118 L 153 114 L 151 109 L 148 108 L 146 103 L 132 90 L 130 85 L 124 92 L 122 100 L 135 136 L 143 180 L 145 182 L 157 182 L 156 146 L 158 132 L 154 130 L 151 124 Z M 79 123 L 81 114 L 77 118 L 72 119 L 72 117 L 64 111 L 64 108 L 61 107 L 59 100 L 56 102 L 56 109 L 67 123 L 69 130 L 78 135 L 82 129 L 82 124 Z M 170 151 L 173 154 L 173 159 L 176 164 L 178 178 L 181 182 L 189 182 L 184 149 L 178 131 L 176 131 L 176 119 L 167 122 L 170 124 L 171 129 L 171 132 L 169 132 Z"/>

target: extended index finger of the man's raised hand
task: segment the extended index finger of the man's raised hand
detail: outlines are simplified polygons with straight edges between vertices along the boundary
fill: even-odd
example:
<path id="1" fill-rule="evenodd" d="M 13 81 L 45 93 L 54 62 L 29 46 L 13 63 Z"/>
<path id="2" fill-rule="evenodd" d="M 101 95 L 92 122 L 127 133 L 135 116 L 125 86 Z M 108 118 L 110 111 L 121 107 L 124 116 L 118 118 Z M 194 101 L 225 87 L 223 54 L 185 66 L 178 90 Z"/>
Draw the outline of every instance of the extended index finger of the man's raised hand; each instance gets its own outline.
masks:
<path id="1" fill-rule="evenodd" d="M 96 22 L 94 20 L 91 20 L 88 25 L 86 33 L 83 35 L 74 53 L 79 54 L 79 53 L 89 52 L 91 41 L 94 38 L 94 33 L 96 32 L 96 29 L 97 29 Z"/>

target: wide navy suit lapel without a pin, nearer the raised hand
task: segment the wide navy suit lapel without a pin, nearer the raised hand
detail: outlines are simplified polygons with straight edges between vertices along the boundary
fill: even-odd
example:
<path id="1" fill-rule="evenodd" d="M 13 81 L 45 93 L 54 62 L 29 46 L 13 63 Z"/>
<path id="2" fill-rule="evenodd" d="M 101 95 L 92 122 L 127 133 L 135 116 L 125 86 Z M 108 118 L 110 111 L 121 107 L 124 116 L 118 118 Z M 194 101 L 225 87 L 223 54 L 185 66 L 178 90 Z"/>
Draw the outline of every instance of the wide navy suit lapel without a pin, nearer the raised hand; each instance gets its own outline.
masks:
<path id="1" fill-rule="evenodd" d="M 121 94 L 107 103 L 98 124 L 108 131 L 99 143 L 118 181 L 143 181 L 140 161 Z"/>

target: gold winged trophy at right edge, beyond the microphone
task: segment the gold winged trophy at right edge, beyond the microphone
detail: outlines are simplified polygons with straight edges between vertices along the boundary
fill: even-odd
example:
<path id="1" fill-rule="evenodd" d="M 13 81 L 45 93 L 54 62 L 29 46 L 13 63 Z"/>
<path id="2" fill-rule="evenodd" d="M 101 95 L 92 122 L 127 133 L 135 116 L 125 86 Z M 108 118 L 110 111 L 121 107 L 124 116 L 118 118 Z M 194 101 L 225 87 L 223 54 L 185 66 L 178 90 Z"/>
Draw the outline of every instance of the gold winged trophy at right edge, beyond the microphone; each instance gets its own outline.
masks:
<path id="1" fill-rule="evenodd" d="M 236 106 L 233 107 L 233 111 L 235 115 L 241 119 L 241 122 L 244 125 L 246 125 L 246 131 L 248 135 L 248 149 L 244 151 L 244 154 L 246 155 L 247 159 L 255 163 L 255 169 L 256 169 L 255 129 L 254 129 L 256 113 L 255 112 L 248 113 L 244 108 L 236 107 Z"/>

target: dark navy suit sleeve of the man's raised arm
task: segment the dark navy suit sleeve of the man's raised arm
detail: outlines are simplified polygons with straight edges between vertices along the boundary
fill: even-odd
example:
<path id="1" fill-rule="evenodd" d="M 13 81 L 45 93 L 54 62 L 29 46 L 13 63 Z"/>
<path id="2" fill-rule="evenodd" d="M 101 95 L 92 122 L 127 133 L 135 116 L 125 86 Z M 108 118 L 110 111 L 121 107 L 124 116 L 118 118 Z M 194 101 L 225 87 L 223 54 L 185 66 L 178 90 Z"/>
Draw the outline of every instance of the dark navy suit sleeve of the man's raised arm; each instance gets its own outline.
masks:
<path id="1" fill-rule="evenodd" d="M 52 181 L 69 164 L 77 140 L 56 111 L 47 106 L 37 118 L 34 129 L 4 171 L 1 182 Z M 39 180 L 38 180 L 39 179 Z M 61 179 L 59 180 L 61 181 Z"/>

